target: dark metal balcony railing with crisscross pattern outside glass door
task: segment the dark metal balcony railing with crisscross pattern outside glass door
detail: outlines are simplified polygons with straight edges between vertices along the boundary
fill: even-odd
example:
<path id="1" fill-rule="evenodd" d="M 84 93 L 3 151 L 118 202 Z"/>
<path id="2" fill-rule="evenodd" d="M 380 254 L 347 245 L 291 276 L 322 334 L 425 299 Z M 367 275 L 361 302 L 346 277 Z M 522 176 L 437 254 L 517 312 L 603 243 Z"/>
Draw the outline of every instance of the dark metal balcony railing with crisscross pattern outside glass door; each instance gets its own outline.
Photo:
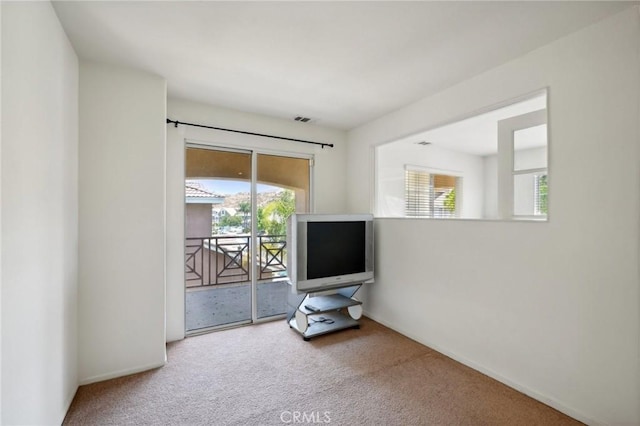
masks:
<path id="1" fill-rule="evenodd" d="M 287 276 L 284 235 L 259 235 L 258 280 Z M 185 244 L 187 287 L 251 281 L 251 237 L 248 235 L 191 237 Z"/>

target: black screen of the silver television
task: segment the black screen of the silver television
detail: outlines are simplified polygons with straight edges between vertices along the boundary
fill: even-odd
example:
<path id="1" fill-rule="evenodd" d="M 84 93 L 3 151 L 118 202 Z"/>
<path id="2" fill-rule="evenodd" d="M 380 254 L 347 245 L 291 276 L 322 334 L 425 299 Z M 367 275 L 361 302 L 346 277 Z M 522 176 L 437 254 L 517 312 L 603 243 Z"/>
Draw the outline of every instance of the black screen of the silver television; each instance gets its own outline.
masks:
<path id="1" fill-rule="evenodd" d="M 365 222 L 308 222 L 307 279 L 365 269 Z"/>

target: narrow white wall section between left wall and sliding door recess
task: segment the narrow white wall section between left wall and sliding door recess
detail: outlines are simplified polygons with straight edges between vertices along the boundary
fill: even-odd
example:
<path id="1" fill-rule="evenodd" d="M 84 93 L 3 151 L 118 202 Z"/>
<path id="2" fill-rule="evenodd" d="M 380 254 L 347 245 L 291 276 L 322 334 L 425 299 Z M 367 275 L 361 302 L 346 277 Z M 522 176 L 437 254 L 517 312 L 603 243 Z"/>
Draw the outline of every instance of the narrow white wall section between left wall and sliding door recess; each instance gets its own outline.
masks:
<path id="1" fill-rule="evenodd" d="M 80 63 L 79 378 L 165 362 L 166 83 Z"/>

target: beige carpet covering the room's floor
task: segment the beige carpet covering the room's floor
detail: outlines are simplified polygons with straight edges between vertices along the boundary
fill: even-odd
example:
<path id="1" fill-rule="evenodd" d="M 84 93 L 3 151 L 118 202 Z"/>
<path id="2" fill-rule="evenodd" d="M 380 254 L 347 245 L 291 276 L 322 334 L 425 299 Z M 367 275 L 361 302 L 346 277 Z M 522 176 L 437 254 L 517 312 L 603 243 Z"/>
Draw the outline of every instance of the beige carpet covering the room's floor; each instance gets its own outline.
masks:
<path id="1" fill-rule="evenodd" d="M 579 424 L 374 321 L 361 324 L 310 342 L 276 321 L 169 344 L 163 368 L 80 387 L 64 424 Z"/>

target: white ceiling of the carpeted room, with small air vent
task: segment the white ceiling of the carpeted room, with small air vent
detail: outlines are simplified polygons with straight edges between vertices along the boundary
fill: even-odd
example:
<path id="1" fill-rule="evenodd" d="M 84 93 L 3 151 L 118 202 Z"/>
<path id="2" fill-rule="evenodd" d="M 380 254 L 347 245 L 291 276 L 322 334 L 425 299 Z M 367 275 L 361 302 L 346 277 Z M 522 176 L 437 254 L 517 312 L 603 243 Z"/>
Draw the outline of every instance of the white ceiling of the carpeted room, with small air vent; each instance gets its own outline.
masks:
<path id="1" fill-rule="evenodd" d="M 350 129 L 637 2 L 55 1 L 81 58 L 170 97 Z"/>

